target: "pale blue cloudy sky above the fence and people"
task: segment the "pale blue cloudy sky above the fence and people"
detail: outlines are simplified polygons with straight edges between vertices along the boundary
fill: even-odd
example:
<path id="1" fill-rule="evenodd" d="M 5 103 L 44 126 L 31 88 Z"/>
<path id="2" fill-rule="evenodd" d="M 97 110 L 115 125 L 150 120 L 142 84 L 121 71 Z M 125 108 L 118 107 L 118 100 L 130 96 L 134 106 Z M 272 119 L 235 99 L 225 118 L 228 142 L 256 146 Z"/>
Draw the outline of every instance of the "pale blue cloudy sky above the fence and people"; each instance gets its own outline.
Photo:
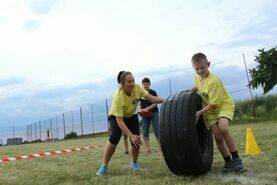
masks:
<path id="1" fill-rule="evenodd" d="M 276 20 L 274 0 L 0 1 L 0 129 L 110 98 L 122 69 L 178 92 L 199 51 L 230 91 L 245 89 L 242 53 L 253 67 L 276 46 Z"/>

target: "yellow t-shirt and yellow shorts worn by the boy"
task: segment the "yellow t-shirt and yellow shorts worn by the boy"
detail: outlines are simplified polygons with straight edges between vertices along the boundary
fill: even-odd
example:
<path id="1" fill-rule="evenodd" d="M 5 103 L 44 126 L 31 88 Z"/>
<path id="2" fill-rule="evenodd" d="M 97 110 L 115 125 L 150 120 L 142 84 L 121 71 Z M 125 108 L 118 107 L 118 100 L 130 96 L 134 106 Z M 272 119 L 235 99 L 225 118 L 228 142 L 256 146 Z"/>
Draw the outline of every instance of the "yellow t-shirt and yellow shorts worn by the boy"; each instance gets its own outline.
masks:
<path id="1" fill-rule="evenodd" d="M 221 80 L 209 72 L 208 77 L 204 80 L 199 75 L 194 78 L 195 85 L 202 98 L 202 106 L 212 104 L 212 109 L 204 114 L 204 120 L 207 127 L 211 127 L 220 117 L 226 117 L 230 120 L 234 116 L 234 102 L 232 97 L 224 88 Z"/>

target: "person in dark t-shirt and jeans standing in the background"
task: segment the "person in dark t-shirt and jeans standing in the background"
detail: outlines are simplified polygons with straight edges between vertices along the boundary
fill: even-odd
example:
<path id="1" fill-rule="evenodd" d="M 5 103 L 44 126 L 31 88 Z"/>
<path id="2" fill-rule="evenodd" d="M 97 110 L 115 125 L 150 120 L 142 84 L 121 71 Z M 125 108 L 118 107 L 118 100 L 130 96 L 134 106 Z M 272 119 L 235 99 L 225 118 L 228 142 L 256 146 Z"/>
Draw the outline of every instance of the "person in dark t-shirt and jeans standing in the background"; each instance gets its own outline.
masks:
<path id="1" fill-rule="evenodd" d="M 150 79 L 145 77 L 142 79 L 142 86 L 143 88 L 149 92 L 149 94 L 153 96 L 157 96 L 157 93 L 155 90 L 150 89 L 151 82 Z M 143 130 L 143 139 L 146 147 L 146 152 L 150 153 L 151 148 L 150 148 L 150 142 L 149 142 L 149 127 L 150 124 L 152 124 L 152 128 L 157 140 L 158 144 L 158 149 L 160 150 L 160 139 L 159 139 L 159 109 L 157 107 L 156 103 L 152 103 L 148 101 L 145 98 L 141 98 L 140 100 L 140 105 L 141 105 L 141 112 L 151 112 L 153 113 L 151 117 L 145 117 L 142 116 L 142 130 Z"/>

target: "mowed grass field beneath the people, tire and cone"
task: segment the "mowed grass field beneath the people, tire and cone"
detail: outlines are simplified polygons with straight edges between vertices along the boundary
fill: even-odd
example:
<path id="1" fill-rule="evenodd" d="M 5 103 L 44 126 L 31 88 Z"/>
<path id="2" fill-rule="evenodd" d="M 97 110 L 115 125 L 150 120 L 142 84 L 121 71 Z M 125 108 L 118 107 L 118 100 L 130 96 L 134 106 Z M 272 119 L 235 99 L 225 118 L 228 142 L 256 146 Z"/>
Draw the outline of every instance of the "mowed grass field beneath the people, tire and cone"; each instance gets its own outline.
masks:
<path id="1" fill-rule="evenodd" d="M 139 162 L 143 171 L 130 169 L 130 156 L 124 154 L 121 140 L 113 156 L 106 176 L 97 177 L 95 172 L 102 162 L 104 147 L 0 163 L 0 184 L 277 184 L 277 122 L 231 124 L 240 154 L 247 171 L 242 174 L 222 174 L 223 160 L 217 149 L 210 172 L 204 176 L 176 176 L 169 171 L 162 153 L 157 150 L 151 135 L 152 153 L 146 154 L 142 146 Z M 258 156 L 245 156 L 246 128 L 250 127 L 262 150 Z M 52 150 L 71 149 L 85 146 L 102 145 L 107 136 L 59 141 L 52 143 L 26 144 L 0 147 L 0 158 L 14 157 Z"/>

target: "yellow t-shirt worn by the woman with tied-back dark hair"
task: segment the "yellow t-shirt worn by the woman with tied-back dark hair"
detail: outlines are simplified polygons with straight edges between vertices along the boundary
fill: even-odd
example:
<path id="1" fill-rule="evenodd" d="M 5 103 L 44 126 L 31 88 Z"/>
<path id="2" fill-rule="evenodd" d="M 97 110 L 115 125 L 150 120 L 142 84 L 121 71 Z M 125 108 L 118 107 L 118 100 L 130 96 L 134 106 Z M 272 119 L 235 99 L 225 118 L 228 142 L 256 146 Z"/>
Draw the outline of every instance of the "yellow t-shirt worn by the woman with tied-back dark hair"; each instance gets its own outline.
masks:
<path id="1" fill-rule="evenodd" d="M 113 94 L 112 106 L 109 115 L 130 118 L 136 114 L 137 104 L 141 97 L 146 97 L 148 92 L 140 85 L 135 86 L 131 96 L 127 96 L 122 88 L 119 88 Z"/>

